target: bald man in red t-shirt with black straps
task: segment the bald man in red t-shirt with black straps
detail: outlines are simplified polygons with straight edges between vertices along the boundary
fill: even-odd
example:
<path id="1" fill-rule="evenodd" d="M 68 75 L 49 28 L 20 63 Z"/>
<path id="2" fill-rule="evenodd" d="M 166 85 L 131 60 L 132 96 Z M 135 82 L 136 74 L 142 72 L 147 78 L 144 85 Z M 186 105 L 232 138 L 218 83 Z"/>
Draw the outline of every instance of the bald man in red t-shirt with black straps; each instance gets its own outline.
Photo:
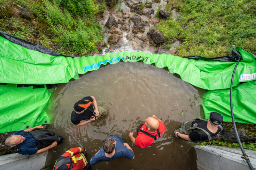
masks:
<path id="1" fill-rule="evenodd" d="M 155 143 L 155 140 L 158 139 L 165 132 L 165 126 L 162 120 L 158 119 L 155 115 L 151 115 L 145 120 L 145 124 L 141 124 L 137 129 L 137 137 L 133 137 L 133 133 L 129 133 L 129 137 L 134 145 L 137 145 L 141 148 Z"/>

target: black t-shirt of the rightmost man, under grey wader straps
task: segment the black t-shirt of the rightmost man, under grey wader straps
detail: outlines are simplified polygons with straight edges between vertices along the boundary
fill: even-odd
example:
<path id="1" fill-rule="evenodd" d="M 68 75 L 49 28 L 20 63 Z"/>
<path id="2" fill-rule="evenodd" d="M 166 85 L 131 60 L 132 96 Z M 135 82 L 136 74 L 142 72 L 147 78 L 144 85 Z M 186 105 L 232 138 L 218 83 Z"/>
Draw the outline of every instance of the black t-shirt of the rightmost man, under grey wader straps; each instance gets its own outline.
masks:
<path id="1" fill-rule="evenodd" d="M 193 121 L 191 127 L 200 127 L 202 129 L 208 131 L 211 138 L 216 137 L 221 131 L 221 128 L 218 127 L 217 132 L 215 134 L 212 133 L 209 129 L 207 129 L 207 121 L 200 120 L 200 119 L 196 119 L 195 121 Z M 188 137 L 191 139 L 192 142 L 196 142 L 196 143 L 198 141 L 209 141 L 210 140 L 208 135 L 205 134 L 205 132 L 200 129 L 192 129 L 192 132 L 190 134 L 188 134 Z"/>

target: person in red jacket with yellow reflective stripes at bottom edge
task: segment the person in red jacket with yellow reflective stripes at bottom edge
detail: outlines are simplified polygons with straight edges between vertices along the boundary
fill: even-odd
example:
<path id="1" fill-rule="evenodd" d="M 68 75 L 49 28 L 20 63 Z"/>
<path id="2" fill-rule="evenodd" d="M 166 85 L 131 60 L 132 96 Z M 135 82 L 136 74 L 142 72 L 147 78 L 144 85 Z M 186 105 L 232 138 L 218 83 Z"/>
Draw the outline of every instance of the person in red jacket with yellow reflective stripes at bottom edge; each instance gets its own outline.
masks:
<path id="1" fill-rule="evenodd" d="M 74 147 L 66 151 L 56 161 L 54 170 L 90 170 L 91 165 L 86 160 L 84 147 Z"/>

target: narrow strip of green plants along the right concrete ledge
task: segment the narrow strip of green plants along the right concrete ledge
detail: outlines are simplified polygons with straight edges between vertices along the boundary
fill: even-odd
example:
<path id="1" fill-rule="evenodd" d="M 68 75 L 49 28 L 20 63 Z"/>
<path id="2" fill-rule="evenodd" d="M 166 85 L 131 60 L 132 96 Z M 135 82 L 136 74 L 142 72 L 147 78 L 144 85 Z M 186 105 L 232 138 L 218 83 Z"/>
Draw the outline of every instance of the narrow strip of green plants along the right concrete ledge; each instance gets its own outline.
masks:
<path id="1" fill-rule="evenodd" d="M 217 140 L 213 140 L 213 141 L 203 142 L 203 143 L 201 143 L 199 145 L 216 145 L 216 146 L 227 146 L 227 147 L 239 147 L 238 143 L 223 141 L 222 139 L 217 139 Z M 242 142 L 242 146 L 245 149 L 256 151 L 256 141 L 255 141 L 255 143 L 245 143 L 245 142 Z"/>

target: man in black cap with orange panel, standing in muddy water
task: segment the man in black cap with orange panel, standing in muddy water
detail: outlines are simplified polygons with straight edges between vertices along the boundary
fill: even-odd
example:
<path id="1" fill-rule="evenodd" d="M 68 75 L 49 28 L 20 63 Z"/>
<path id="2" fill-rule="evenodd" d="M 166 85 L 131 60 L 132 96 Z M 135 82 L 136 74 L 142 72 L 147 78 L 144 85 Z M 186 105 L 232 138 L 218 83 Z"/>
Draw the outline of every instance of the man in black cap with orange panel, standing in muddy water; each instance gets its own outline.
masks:
<path id="1" fill-rule="evenodd" d="M 106 109 L 98 106 L 93 96 L 87 96 L 75 103 L 71 122 L 75 126 L 82 126 L 106 114 Z"/>

